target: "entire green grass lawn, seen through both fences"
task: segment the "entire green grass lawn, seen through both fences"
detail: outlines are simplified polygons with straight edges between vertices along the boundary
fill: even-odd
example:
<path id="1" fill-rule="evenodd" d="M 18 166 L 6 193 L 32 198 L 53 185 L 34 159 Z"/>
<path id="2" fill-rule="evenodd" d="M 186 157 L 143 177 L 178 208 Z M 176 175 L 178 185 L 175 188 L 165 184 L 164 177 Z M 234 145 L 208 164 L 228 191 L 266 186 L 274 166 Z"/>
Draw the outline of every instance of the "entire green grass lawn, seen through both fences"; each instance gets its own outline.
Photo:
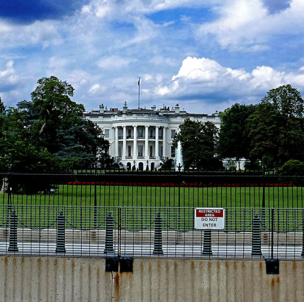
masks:
<path id="1" fill-rule="evenodd" d="M 275 210 L 275 225 L 281 231 L 294 230 L 299 225 L 302 227 L 304 215 L 302 210 L 288 210 L 288 208 L 304 207 L 303 187 L 266 187 L 265 212 L 259 209 L 263 206 L 263 187 L 60 185 L 54 194 L 12 194 L 11 198 L 12 204 L 23 205 L 22 208 L 17 209 L 19 225 L 31 228 L 54 225 L 60 210 L 64 211 L 68 228 L 92 229 L 96 224 L 100 228 L 105 228 L 108 212 L 111 212 L 112 217 L 115 218 L 115 228 L 117 228 L 117 206 L 128 207 L 121 210 L 122 225 L 126 229 L 150 228 L 154 230 L 152 224 L 160 211 L 162 228 L 191 230 L 194 219 L 193 207 L 237 208 L 227 210 L 226 230 L 250 230 L 255 213 L 260 219 L 265 217 L 265 226 L 269 229 L 271 210 L 268 208 L 272 207 L 285 208 Z M 0 202 L 3 205 L 8 204 L 8 195 L 1 194 Z M 101 208 L 91 207 L 95 202 Z M 61 207 L 72 205 L 82 207 Z M 256 210 L 249 208 L 256 208 Z M 6 207 L 3 207 L 1 211 L 0 224 L 4 223 L 8 217 Z"/>

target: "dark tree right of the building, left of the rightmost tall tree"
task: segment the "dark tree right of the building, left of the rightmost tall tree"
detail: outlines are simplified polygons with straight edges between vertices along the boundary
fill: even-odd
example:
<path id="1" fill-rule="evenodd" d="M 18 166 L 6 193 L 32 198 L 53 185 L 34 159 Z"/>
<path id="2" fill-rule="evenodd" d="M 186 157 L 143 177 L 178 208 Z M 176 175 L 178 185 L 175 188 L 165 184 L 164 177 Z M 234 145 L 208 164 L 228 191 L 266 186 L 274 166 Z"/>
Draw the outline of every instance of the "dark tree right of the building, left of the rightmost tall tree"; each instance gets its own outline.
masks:
<path id="1" fill-rule="evenodd" d="M 249 158 L 250 137 L 247 120 L 255 110 L 256 105 L 235 103 L 221 113 L 217 152 L 222 158 Z"/>

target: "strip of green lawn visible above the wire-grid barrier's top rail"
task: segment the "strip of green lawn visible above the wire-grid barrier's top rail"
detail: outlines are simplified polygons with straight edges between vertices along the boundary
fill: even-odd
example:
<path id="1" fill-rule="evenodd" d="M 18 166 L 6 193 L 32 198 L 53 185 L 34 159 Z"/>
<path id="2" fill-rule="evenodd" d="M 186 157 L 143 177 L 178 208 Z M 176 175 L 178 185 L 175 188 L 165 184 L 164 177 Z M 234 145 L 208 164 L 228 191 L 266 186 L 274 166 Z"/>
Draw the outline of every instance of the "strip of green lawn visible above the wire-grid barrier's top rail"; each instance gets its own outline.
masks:
<path id="1" fill-rule="evenodd" d="M 95 191 L 96 190 L 96 191 Z M 7 194 L 0 195 L 2 204 Z M 60 185 L 54 194 L 12 194 L 13 204 L 144 207 L 262 207 L 263 187 Z M 304 207 L 303 187 L 266 187 L 265 207 Z"/>

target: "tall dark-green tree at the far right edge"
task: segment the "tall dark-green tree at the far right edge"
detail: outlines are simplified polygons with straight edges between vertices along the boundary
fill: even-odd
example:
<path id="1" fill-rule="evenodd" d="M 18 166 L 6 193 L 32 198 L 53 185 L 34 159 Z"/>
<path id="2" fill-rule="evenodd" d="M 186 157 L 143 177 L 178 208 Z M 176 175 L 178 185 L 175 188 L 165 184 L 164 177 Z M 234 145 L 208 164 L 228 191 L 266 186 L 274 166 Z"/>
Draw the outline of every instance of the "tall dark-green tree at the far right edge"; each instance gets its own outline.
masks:
<path id="1" fill-rule="evenodd" d="M 251 159 L 268 168 L 304 160 L 303 104 L 300 92 L 290 85 L 268 91 L 248 119 Z"/>

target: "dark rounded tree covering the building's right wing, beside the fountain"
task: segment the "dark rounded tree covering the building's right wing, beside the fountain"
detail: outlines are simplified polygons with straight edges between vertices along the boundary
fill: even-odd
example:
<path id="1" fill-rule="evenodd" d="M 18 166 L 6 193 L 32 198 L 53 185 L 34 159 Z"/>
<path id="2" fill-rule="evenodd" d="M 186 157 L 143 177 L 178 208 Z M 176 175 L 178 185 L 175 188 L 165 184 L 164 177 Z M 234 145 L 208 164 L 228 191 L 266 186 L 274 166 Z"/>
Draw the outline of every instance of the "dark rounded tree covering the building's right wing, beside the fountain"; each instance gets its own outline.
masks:
<path id="1" fill-rule="evenodd" d="M 184 168 L 210 169 L 218 168 L 215 159 L 218 129 L 207 121 L 190 120 L 189 118 L 179 125 L 179 133 L 173 139 L 173 146 L 181 143 Z"/>

